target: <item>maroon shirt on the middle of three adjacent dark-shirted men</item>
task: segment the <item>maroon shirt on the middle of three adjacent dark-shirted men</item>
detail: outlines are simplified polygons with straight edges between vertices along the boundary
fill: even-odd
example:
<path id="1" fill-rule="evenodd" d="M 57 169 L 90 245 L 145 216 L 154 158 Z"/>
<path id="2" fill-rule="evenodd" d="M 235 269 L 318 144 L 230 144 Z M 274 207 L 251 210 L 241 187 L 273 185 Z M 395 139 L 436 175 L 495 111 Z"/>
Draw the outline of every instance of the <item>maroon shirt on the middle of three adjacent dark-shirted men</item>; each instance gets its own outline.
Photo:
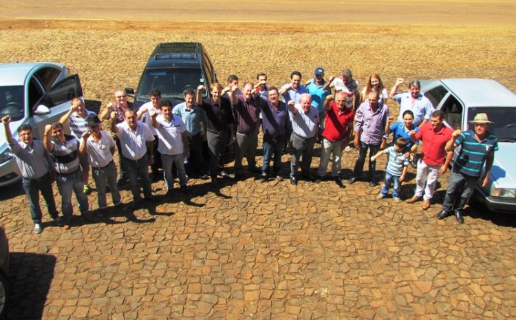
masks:
<path id="1" fill-rule="evenodd" d="M 251 97 L 248 101 L 244 96 L 237 96 L 237 104 L 233 105 L 237 132 L 249 135 L 258 131 L 260 107 L 263 104 L 261 98 Z"/>

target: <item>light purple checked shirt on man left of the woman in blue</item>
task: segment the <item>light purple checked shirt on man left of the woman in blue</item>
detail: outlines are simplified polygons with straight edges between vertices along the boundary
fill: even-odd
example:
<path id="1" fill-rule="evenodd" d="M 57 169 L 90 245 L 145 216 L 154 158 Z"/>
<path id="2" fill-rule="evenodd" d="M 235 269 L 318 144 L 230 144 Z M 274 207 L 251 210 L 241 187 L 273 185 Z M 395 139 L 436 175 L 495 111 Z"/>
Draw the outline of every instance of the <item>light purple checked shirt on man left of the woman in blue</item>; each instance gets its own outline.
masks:
<path id="1" fill-rule="evenodd" d="M 361 142 L 367 145 L 380 145 L 385 131 L 385 124 L 389 118 L 389 107 L 378 102 L 378 108 L 373 111 L 369 107 L 369 100 L 365 100 L 355 116 L 355 132 L 360 133 Z"/>

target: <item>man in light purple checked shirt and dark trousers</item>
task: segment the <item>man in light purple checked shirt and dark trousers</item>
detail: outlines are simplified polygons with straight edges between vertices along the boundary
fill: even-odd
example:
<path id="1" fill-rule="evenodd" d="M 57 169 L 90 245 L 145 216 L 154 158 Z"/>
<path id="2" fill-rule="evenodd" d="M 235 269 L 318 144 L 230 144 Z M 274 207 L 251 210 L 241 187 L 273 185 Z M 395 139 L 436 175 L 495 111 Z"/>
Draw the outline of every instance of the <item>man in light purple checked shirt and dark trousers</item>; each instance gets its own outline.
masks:
<path id="1" fill-rule="evenodd" d="M 376 161 L 371 158 L 380 149 L 387 118 L 389 118 L 389 107 L 378 101 L 378 92 L 369 92 L 367 100 L 356 110 L 354 147 L 358 149 L 358 159 L 355 162 L 350 184 L 355 183 L 361 177 L 365 154 L 369 149 L 369 185 L 376 186 L 374 178 Z"/>

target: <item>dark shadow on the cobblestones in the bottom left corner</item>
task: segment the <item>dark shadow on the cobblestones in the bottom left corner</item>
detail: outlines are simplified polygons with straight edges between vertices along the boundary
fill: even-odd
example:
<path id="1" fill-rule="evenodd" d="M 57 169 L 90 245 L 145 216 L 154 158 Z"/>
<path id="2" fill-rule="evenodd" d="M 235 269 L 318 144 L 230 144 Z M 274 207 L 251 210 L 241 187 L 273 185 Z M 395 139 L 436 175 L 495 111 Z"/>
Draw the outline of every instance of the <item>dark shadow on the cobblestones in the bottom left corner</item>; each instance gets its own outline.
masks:
<path id="1" fill-rule="evenodd" d="M 10 253 L 10 298 L 6 319 L 41 319 L 56 257 L 38 253 Z"/>

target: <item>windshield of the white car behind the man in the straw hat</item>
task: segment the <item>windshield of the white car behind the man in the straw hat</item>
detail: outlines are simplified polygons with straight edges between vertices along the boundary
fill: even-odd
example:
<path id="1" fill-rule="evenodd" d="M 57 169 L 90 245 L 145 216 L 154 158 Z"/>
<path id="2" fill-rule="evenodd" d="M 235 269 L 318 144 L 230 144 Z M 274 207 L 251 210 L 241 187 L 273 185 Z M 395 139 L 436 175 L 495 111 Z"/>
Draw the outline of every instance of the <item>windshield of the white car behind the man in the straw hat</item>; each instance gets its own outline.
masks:
<path id="1" fill-rule="evenodd" d="M 516 142 L 516 107 L 472 107 L 468 111 L 468 128 L 473 129 L 469 121 L 477 114 L 487 114 L 491 131 L 502 142 Z"/>

